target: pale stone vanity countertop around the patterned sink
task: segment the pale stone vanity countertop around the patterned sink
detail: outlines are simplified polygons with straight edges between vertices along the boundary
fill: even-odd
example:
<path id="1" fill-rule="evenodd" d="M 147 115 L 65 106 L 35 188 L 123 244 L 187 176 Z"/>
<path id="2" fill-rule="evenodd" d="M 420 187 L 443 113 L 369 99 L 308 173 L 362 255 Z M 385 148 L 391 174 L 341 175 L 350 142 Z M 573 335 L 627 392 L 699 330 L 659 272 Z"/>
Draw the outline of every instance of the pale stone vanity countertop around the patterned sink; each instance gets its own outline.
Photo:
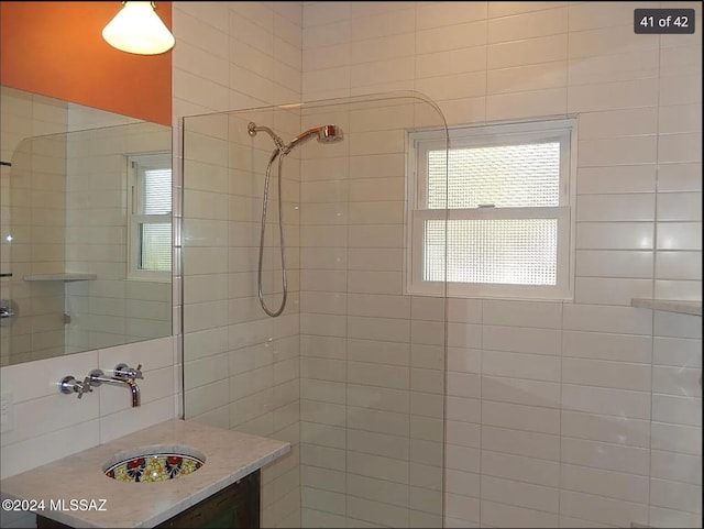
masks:
<path id="1" fill-rule="evenodd" d="M 187 445 L 206 462 L 162 483 L 124 483 L 102 472 L 116 453 L 150 445 Z M 73 527 L 153 527 L 289 451 L 288 442 L 173 419 L 2 480 L 0 489 L 10 498 L 44 500 L 37 515 Z M 105 510 L 81 509 L 80 502 L 72 510 L 72 500 L 96 500 L 99 507 L 101 499 Z"/>

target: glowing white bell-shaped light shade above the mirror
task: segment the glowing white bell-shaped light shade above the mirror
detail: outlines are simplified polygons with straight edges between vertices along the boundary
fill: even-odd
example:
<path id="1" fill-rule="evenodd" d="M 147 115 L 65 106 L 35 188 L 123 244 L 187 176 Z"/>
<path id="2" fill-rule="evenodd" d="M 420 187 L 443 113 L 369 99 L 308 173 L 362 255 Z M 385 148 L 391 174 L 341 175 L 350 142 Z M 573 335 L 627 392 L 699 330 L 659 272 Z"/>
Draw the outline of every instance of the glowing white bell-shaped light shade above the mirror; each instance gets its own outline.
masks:
<path id="1" fill-rule="evenodd" d="M 167 52 L 176 42 L 154 11 L 153 2 L 124 2 L 102 30 L 102 37 L 112 47 L 139 55 Z"/>

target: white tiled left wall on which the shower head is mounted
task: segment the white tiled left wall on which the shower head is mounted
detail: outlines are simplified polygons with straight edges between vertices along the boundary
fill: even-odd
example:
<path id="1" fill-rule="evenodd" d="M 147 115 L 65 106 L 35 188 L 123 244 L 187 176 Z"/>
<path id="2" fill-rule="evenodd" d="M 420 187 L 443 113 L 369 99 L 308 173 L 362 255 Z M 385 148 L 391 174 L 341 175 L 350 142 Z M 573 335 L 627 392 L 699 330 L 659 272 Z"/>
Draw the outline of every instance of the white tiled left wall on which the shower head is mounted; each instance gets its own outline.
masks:
<path id="1" fill-rule="evenodd" d="M 174 4 L 174 33 L 179 43 L 173 107 L 178 126 L 183 117 L 300 100 L 300 3 L 179 2 Z M 298 329 L 305 324 L 298 317 L 295 233 L 299 175 L 292 156 L 284 181 L 289 298 L 285 315 L 274 322 L 258 307 L 255 283 L 262 184 L 272 145 L 262 134 L 255 142 L 261 152 L 252 159 L 250 120 L 293 136 L 300 118 L 216 114 L 189 118 L 185 126 L 185 415 L 292 442 L 292 453 L 264 470 L 262 522 L 297 527 Z M 276 218 L 276 208 L 270 208 L 265 260 L 271 272 L 263 277 L 265 291 L 272 293 L 280 293 L 277 267 L 268 264 L 278 260 Z M 279 298 L 275 294 L 266 300 L 273 307 Z"/>

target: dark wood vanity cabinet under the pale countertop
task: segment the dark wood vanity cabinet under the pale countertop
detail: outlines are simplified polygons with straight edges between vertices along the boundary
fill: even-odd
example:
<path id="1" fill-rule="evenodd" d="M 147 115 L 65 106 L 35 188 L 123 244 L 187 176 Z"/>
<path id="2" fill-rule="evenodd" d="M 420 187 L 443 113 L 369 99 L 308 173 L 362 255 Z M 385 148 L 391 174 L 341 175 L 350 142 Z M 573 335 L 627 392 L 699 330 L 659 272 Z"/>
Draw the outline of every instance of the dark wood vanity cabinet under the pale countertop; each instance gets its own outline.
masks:
<path id="1" fill-rule="evenodd" d="M 261 472 L 257 470 L 155 527 L 193 529 L 258 528 L 260 475 Z M 135 486 L 151 486 L 151 484 Z M 70 526 L 37 515 L 36 527 L 38 529 L 57 529 L 69 528 Z"/>

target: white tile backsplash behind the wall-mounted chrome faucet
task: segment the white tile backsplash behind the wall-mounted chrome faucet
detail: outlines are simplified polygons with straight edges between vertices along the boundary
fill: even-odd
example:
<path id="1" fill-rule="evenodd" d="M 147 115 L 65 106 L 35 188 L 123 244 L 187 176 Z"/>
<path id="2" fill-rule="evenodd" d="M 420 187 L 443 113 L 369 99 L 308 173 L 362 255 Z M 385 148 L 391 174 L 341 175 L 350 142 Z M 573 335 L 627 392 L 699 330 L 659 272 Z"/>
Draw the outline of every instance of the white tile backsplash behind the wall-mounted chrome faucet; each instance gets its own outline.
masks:
<path id="1" fill-rule="evenodd" d="M 2 434 L 2 477 L 176 417 L 176 340 L 167 337 L 3 366 L 1 385 L 12 394 L 14 428 Z M 91 370 L 112 370 L 122 362 L 143 365 L 139 408 L 131 407 L 129 392 L 119 387 L 102 386 L 80 400 L 58 390 L 66 375 L 82 379 Z"/>

